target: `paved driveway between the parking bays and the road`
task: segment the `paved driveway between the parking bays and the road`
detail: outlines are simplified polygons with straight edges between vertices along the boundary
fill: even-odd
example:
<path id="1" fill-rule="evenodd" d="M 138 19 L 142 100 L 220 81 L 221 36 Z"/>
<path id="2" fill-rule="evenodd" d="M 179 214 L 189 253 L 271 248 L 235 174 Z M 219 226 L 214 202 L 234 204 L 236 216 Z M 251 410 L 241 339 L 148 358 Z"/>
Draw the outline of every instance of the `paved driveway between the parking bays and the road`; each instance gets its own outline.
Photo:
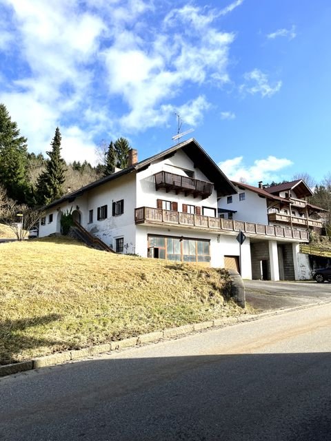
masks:
<path id="1" fill-rule="evenodd" d="M 246 301 L 263 311 L 331 302 L 331 283 L 243 280 Z"/>

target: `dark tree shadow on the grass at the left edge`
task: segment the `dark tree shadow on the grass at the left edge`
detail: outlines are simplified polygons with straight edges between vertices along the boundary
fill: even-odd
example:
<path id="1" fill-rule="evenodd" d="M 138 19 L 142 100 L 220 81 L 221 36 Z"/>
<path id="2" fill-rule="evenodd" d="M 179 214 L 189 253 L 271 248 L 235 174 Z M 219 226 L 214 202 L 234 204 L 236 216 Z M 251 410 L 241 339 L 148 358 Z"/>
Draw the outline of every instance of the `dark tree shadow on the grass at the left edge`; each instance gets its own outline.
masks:
<path id="1" fill-rule="evenodd" d="M 59 340 L 36 338 L 24 334 L 28 328 L 48 325 L 59 318 L 61 318 L 59 314 L 48 314 L 48 316 L 0 321 L 0 365 L 19 361 L 16 358 L 17 353 L 26 349 L 63 344 Z"/>

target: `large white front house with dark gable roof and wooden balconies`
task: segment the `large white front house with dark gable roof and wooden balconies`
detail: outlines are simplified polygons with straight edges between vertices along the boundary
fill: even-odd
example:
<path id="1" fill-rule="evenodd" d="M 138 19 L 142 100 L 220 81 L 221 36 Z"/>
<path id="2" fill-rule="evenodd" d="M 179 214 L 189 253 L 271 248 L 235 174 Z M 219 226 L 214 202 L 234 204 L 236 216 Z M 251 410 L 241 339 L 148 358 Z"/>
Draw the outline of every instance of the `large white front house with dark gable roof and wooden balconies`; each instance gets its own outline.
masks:
<path id="1" fill-rule="evenodd" d="M 308 241 L 307 230 L 297 234 L 286 229 L 285 233 L 283 227 L 270 226 L 268 216 L 264 223 L 258 218 L 259 224 L 254 216 L 250 222 L 225 218 L 219 201 L 230 197 L 239 197 L 236 185 L 194 139 L 140 162 L 137 151 L 130 150 L 126 169 L 48 205 L 39 236 L 61 232 L 61 216 L 71 210 L 81 228 L 115 252 L 212 267 L 240 266 L 241 275 L 248 279 L 253 275 L 251 244 L 264 240 L 276 244 L 270 248 L 269 265 L 274 280 L 279 278 L 274 269 L 279 240 L 291 249 L 295 245 L 292 277 L 298 278 L 295 252 L 300 242 Z M 242 245 L 237 240 L 240 231 L 245 234 Z"/>

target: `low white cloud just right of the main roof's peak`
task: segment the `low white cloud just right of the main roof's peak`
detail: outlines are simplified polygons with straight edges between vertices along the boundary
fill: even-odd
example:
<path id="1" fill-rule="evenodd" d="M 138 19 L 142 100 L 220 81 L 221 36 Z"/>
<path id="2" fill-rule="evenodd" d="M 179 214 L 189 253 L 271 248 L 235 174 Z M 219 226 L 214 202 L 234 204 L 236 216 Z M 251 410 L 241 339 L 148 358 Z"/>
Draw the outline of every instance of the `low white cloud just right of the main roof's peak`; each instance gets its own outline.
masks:
<path id="1" fill-rule="evenodd" d="M 257 186 L 259 181 L 272 182 L 283 178 L 281 170 L 292 165 L 286 158 L 268 156 L 266 159 L 257 159 L 254 165 L 247 166 L 243 163 L 243 156 L 228 159 L 219 163 L 222 172 L 232 181 L 244 181 Z"/>

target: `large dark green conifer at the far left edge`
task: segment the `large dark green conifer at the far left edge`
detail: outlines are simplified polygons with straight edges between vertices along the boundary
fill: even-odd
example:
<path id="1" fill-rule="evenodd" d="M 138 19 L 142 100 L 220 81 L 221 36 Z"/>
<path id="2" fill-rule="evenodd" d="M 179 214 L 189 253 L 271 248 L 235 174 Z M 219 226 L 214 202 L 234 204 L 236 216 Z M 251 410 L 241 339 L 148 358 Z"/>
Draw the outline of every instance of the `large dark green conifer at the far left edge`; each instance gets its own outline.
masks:
<path id="1" fill-rule="evenodd" d="M 0 104 L 0 182 L 8 197 L 19 203 L 26 202 L 28 193 L 26 141 L 6 106 Z"/>

